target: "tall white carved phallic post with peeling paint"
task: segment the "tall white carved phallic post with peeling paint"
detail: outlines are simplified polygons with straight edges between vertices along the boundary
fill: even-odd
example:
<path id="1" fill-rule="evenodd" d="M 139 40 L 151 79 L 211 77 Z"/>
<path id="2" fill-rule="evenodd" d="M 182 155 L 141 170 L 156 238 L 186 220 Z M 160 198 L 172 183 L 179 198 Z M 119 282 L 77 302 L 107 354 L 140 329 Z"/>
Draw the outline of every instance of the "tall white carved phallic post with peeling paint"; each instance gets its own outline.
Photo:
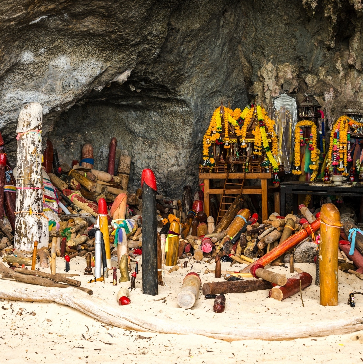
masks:
<path id="1" fill-rule="evenodd" d="M 33 242 L 38 249 L 48 246 L 48 220 L 43 213 L 43 180 L 40 103 L 28 104 L 20 111 L 16 132 L 16 218 L 14 248 L 31 252 Z"/>

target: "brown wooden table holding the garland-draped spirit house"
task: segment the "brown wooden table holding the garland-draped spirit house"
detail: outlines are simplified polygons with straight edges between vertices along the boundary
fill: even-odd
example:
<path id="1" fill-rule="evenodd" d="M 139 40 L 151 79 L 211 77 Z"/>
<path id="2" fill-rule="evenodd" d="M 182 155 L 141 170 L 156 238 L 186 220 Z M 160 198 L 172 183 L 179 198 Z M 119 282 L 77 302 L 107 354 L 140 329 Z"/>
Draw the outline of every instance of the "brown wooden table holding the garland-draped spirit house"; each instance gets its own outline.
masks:
<path id="1" fill-rule="evenodd" d="M 227 173 L 199 173 L 199 178 L 204 181 L 204 212 L 209 216 L 209 195 L 222 195 L 223 187 L 220 188 L 210 188 L 210 179 L 226 179 Z M 242 179 L 244 173 L 230 173 L 229 179 Z M 246 179 L 260 179 L 261 187 L 259 186 L 246 186 L 243 187 L 243 194 L 261 195 L 262 198 L 262 220 L 267 220 L 268 218 L 268 204 L 267 197 L 268 193 L 274 193 L 275 197 L 275 210 L 274 212 L 280 213 L 280 187 L 277 186 L 267 186 L 267 180 L 274 178 L 273 173 L 246 173 Z M 231 193 L 239 194 L 240 190 L 230 190 Z"/>

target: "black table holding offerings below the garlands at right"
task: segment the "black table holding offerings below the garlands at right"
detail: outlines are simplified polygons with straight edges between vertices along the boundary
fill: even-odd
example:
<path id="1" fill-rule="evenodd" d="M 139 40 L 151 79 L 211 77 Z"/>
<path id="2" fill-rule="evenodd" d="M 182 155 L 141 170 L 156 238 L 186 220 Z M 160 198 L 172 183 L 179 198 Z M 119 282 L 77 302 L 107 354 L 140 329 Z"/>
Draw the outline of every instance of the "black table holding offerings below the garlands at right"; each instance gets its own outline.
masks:
<path id="1" fill-rule="evenodd" d="M 280 214 L 285 216 L 286 194 L 292 194 L 292 209 L 294 214 L 298 213 L 298 194 L 320 195 L 320 196 L 350 196 L 363 197 L 363 183 L 356 182 L 351 187 L 344 187 L 347 183 L 341 185 L 324 184 L 312 186 L 309 182 L 292 181 L 280 183 Z"/>

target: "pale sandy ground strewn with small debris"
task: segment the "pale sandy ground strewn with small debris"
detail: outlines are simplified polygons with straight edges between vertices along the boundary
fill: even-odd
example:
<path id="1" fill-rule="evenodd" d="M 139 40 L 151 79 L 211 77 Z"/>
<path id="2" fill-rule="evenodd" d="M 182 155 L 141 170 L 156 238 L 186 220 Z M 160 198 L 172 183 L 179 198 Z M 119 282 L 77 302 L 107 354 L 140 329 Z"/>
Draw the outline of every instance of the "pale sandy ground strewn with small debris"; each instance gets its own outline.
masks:
<path id="1" fill-rule="evenodd" d="M 113 258 L 113 262 L 114 262 Z M 183 264 L 183 260 L 181 263 Z M 193 267 L 191 269 L 191 264 Z M 115 264 L 116 265 L 116 264 Z M 139 264 L 139 268 L 140 268 Z M 313 276 L 315 265 L 295 264 Z M 118 307 L 116 294 L 121 286 L 112 286 L 112 275 L 106 282 L 88 284 L 89 276 L 83 276 L 84 258 L 71 261 L 69 273 L 80 273 L 77 279 L 82 286 L 93 289 L 94 296 Z M 132 263 L 132 267 L 134 264 Z M 186 273 L 200 274 L 202 284 L 214 281 L 214 274 L 204 274 L 206 268 L 214 269 L 213 264 L 190 261 L 188 267 L 165 276 L 164 287 L 159 286 L 157 296 L 146 296 L 141 291 L 141 274 L 137 276 L 136 289 L 130 294 L 128 306 L 140 315 L 154 315 L 159 318 L 177 317 L 184 324 L 188 320 L 215 325 L 276 325 L 289 327 L 290 323 L 307 323 L 319 320 L 363 316 L 363 296 L 357 294 L 356 307 L 347 305 L 349 293 L 360 290 L 359 278 L 339 271 L 339 305 L 324 307 L 319 305 L 319 287 L 311 285 L 303 292 L 305 308 L 300 294 L 279 302 L 268 298 L 268 290 L 244 294 L 226 294 L 225 312 L 215 314 L 214 300 L 206 300 L 200 291 L 196 305 L 181 309 L 176 305 L 176 294 Z M 222 263 L 223 270 L 239 270 L 242 265 L 229 267 Z M 50 272 L 49 269 L 43 269 Z M 57 272 L 63 272 L 64 260 L 57 259 Z M 292 276 L 283 267 L 274 271 Z M 111 273 L 111 272 L 110 272 Z M 119 274 L 118 274 L 119 275 Z M 220 278 L 223 280 L 223 277 Z M 3 287 L 11 290 L 28 286 L 20 282 L 0 280 Z M 163 300 L 158 300 L 163 298 Z M 363 332 L 328 337 L 295 339 L 289 341 L 243 340 L 228 343 L 204 336 L 165 335 L 148 332 L 127 331 L 103 324 L 68 306 L 56 303 L 3 301 L 0 310 L 0 362 L 18 363 L 282 363 L 287 361 L 302 363 L 361 363 L 363 361 Z M 20 315 L 19 310 L 23 309 Z M 31 312 L 36 315 L 32 316 Z M 172 317 L 171 317 L 172 316 Z"/>

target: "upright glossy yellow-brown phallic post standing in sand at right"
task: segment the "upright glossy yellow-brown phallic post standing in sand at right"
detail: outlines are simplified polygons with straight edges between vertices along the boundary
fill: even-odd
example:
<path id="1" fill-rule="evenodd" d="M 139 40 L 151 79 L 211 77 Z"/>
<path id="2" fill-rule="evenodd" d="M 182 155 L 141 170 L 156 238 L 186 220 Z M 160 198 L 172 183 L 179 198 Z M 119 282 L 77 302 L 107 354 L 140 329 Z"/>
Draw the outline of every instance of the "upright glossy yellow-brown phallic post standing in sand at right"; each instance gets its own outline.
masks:
<path id="1" fill-rule="evenodd" d="M 332 203 L 324 203 L 320 210 L 319 280 L 320 305 L 338 306 L 338 246 L 340 214 Z"/>

